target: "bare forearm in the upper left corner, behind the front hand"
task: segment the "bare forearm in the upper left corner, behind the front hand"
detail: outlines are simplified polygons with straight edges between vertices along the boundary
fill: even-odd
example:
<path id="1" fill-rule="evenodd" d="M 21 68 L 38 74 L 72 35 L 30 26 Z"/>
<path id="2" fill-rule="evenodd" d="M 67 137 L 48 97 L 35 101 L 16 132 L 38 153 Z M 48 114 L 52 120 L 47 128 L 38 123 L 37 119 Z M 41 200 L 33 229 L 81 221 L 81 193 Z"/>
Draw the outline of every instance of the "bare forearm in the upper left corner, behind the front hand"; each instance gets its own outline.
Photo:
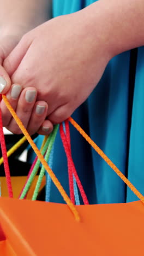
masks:
<path id="1" fill-rule="evenodd" d="M 51 18 L 52 0 L 0 0 L 1 26 L 33 28 Z"/>

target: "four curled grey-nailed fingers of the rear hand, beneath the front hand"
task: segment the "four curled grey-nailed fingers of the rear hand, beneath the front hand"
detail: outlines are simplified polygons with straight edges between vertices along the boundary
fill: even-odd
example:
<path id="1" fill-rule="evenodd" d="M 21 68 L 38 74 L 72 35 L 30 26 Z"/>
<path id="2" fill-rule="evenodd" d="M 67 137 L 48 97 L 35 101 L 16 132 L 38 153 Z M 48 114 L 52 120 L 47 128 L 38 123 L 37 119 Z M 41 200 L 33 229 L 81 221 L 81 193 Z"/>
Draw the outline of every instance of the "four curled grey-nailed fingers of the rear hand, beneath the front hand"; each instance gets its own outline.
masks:
<path id="1" fill-rule="evenodd" d="M 48 109 L 47 103 L 36 101 L 37 90 L 35 88 L 29 87 L 22 90 L 19 84 L 13 84 L 7 94 L 7 98 L 30 135 L 35 132 L 47 135 L 52 131 L 53 127 L 50 121 L 45 120 Z M 13 133 L 22 133 L 15 120 L 11 118 L 11 114 L 4 102 L 1 102 L 1 108 L 3 126 Z"/>

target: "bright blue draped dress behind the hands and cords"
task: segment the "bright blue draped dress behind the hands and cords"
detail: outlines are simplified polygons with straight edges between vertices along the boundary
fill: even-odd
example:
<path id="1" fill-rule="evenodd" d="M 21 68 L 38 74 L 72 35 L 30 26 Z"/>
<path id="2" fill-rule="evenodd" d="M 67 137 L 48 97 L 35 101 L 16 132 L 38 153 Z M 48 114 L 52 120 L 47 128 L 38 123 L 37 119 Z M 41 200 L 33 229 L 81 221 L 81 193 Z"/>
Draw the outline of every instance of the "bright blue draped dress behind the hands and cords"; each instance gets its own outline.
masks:
<path id="1" fill-rule="evenodd" d="M 78 11 L 94 0 L 54 0 L 53 16 Z M 144 48 L 127 51 L 107 65 L 99 84 L 73 118 L 95 143 L 144 194 Z M 90 203 L 120 203 L 137 200 L 117 174 L 70 127 L 76 170 Z M 41 143 L 41 136 L 37 143 Z M 67 160 L 59 134 L 53 171 L 69 193 Z M 52 184 L 52 202 L 63 202 Z"/>

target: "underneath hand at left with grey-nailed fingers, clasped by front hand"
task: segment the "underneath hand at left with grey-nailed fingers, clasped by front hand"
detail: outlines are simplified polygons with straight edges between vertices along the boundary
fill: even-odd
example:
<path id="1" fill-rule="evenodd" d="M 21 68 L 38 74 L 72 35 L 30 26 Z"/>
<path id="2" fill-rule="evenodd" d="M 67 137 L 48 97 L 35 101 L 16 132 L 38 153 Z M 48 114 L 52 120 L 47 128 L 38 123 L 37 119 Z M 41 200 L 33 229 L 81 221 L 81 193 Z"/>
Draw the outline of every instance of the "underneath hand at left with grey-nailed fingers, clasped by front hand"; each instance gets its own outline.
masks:
<path id="1" fill-rule="evenodd" d="M 23 31 L 19 28 L 17 31 L 11 30 L 11 34 L 8 34 L 7 27 L 5 27 L 5 30 L 1 30 L 1 32 L 0 90 L 3 88 L 3 85 L 7 83 L 7 88 L 10 88 L 7 93 L 7 98 L 31 135 L 35 132 L 43 135 L 49 134 L 52 131 L 53 126 L 49 120 L 45 120 L 48 109 L 47 103 L 44 101 L 36 101 L 37 90 L 35 88 L 30 87 L 22 90 L 22 86 L 19 84 L 13 84 L 11 86 L 9 75 L 2 66 L 4 59 L 9 55 L 11 50 L 15 48 L 17 43 L 19 43 Z M 3 93 L 5 93 L 4 90 Z M 7 129 L 13 133 L 21 133 L 21 130 L 15 123 L 15 120 L 11 117 L 3 100 L 1 102 L 1 111 L 3 126 L 7 127 Z"/>

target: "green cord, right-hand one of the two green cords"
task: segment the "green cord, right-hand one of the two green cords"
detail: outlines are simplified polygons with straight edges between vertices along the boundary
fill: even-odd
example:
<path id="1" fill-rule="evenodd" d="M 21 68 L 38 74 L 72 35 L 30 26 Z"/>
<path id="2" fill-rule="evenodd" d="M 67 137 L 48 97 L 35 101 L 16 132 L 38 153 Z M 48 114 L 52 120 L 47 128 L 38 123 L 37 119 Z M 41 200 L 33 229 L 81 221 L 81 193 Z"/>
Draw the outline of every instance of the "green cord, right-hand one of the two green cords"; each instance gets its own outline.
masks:
<path id="1" fill-rule="evenodd" d="M 49 147 L 48 147 L 46 155 L 45 155 L 45 161 L 46 162 L 49 160 L 50 153 L 51 153 L 51 150 L 52 150 L 52 146 L 53 146 L 53 143 L 55 142 L 55 139 L 56 139 L 58 127 L 59 127 L 59 125 L 56 125 L 53 129 L 53 132 L 51 133 L 51 140 L 50 140 Z M 41 170 L 40 170 L 39 178 L 38 178 L 38 181 L 37 181 L 37 185 L 36 185 L 34 193 L 33 193 L 32 200 L 37 199 L 37 196 L 38 196 L 38 193 L 39 193 L 39 188 L 40 188 L 41 182 L 43 180 L 44 174 L 45 174 L 45 167 L 42 166 Z"/>

